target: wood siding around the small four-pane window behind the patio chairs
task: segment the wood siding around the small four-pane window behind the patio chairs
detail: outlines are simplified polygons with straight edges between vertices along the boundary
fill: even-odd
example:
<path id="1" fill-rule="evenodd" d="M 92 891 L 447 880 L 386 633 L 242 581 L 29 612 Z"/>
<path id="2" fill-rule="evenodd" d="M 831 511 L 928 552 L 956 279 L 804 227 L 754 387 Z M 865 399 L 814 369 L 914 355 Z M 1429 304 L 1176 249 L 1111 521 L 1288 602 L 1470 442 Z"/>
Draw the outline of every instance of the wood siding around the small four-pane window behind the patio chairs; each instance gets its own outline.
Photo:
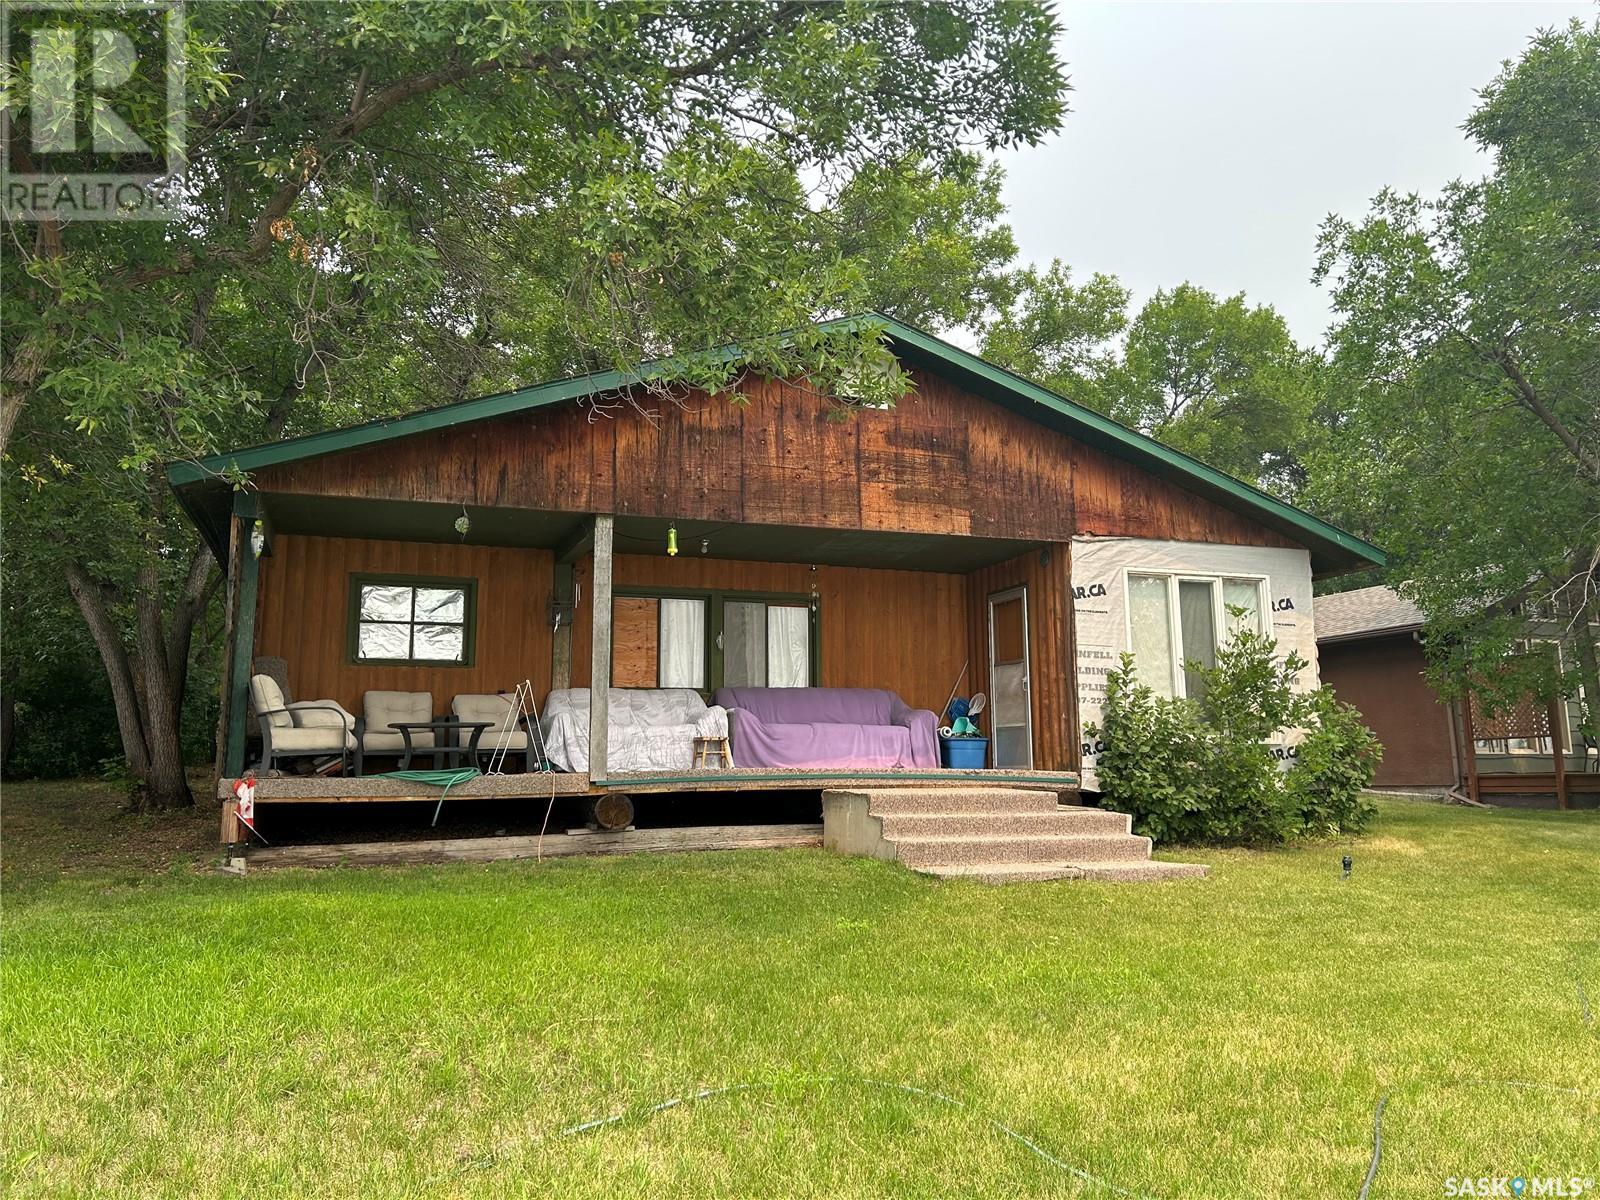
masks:
<path id="1" fill-rule="evenodd" d="M 464 667 L 392 667 L 349 661 L 347 600 L 355 573 L 478 581 L 477 653 Z M 430 691 L 434 712 L 462 693 L 550 686 L 549 550 L 278 534 L 261 560 L 256 654 L 288 662 L 294 699 L 336 699 L 362 715 L 363 691 Z M 587 662 L 587 659 L 584 659 Z"/>

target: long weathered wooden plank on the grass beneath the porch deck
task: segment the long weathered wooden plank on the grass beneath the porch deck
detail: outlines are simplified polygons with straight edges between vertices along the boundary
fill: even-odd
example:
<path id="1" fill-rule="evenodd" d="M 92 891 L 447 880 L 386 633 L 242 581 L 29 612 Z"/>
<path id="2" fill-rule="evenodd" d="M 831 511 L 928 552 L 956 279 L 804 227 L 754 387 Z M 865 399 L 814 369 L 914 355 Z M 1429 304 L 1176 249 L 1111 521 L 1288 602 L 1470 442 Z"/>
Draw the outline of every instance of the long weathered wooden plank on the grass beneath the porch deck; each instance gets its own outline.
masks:
<path id="1" fill-rule="evenodd" d="M 587 854 L 675 854 L 701 850 L 792 850 L 822 845 L 822 826 L 698 826 L 632 829 L 589 837 L 464 837 L 429 842 L 346 842 L 322 846 L 264 846 L 251 867 L 394 866 L 410 862 L 504 862 Z"/>

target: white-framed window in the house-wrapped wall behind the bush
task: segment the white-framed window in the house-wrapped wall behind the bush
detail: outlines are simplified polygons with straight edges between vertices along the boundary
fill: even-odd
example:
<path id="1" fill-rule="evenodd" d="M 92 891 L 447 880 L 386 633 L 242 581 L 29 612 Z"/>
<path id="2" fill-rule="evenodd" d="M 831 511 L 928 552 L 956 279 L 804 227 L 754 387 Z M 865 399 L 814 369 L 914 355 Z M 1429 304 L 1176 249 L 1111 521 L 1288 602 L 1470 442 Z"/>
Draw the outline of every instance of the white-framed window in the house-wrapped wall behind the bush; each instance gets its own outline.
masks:
<path id="1" fill-rule="evenodd" d="M 1130 570 L 1128 650 L 1139 683 L 1158 696 L 1200 699 L 1205 680 L 1186 664 L 1214 667 L 1237 630 L 1266 632 L 1266 576 Z"/>

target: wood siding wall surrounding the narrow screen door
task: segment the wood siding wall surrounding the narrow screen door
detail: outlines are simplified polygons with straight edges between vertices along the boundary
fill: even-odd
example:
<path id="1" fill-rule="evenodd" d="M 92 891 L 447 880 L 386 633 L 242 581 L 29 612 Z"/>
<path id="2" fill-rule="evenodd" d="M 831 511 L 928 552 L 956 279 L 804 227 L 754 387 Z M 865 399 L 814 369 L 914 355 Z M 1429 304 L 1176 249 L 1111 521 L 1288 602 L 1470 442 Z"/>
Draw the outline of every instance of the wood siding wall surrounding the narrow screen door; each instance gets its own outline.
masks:
<path id="1" fill-rule="evenodd" d="M 1048 558 L 1048 562 L 1046 562 Z M 1077 658 L 1072 630 L 1072 547 L 1030 550 L 966 576 L 966 626 L 973 662 L 963 696 L 989 691 L 989 597 L 1027 589 L 1029 706 L 1034 718 L 1034 766 L 1077 771 L 1082 765 Z M 957 667 L 960 670 L 960 667 Z M 982 722 L 989 728 L 987 722 Z"/>

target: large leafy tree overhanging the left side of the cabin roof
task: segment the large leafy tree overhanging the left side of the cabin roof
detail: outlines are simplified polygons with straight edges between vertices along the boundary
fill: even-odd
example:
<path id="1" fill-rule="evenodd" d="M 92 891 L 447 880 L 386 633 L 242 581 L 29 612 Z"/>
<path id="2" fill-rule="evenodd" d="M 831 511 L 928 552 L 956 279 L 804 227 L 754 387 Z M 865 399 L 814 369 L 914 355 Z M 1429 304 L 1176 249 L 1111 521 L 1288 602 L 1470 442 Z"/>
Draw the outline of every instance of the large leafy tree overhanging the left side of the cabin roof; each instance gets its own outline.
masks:
<path id="1" fill-rule="evenodd" d="M 984 0 L 192 6 L 181 219 L 11 224 L 0 264 L 6 554 L 70 584 L 142 802 L 190 802 L 178 709 L 214 586 L 165 459 L 645 358 L 667 400 L 744 371 L 893 400 L 904 376 L 861 370 L 874 330 L 779 334 L 906 259 L 915 226 L 840 238 L 874 173 L 960 197 L 970 146 L 1054 128 L 1054 34 Z M 26 78 L 0 75 L 19 165 Z M 955 275 L 1005 253 L 989 224 L 923 318 L 982 293 Z"/>

